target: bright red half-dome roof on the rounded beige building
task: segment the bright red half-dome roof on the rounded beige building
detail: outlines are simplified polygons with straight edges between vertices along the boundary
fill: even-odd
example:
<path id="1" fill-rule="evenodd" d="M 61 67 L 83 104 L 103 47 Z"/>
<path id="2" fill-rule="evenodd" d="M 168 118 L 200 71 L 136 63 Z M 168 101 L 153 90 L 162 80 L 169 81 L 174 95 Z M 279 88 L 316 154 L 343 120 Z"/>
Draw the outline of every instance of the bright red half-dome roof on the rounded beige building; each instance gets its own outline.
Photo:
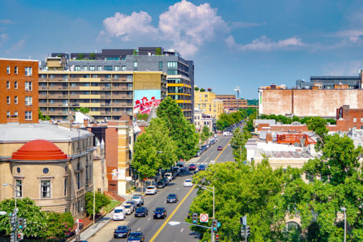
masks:
<path id="1" fill-rule="evenodd" d="M 22 161 L 54 161 L 66 158 L 66 154 L 61 149 L 44 139 L 29 141 L 11 156 L 13 160 Z"/>

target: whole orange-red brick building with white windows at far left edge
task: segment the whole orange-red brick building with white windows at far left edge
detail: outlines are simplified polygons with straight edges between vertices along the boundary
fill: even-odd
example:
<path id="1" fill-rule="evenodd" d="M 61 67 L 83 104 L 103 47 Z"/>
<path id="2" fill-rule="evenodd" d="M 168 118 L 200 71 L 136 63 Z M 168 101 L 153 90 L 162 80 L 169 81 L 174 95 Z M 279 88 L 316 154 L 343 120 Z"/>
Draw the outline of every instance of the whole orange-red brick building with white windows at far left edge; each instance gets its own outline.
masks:
<path id="1" fill-rule="evenodd" d="M 39 62 L 0 59 L 0 123 L 38 122 Z"/>

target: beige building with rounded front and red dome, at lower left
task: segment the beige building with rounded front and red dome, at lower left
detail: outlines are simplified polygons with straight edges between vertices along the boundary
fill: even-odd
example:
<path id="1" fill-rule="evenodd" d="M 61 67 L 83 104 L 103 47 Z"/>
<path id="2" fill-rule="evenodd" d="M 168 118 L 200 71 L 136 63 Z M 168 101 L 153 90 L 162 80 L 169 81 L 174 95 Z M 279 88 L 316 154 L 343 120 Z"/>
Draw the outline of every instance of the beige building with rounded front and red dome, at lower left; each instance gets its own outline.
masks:
<path id="1" fill-rule="evenodd" d="M 86 216 L 84 194 L 93 189 L 93 134 L 49 123 L 0 125 L 0 183 L 16 198 L 44 211 Z M 13 198 L 0 186 L 0 201 Z"/>

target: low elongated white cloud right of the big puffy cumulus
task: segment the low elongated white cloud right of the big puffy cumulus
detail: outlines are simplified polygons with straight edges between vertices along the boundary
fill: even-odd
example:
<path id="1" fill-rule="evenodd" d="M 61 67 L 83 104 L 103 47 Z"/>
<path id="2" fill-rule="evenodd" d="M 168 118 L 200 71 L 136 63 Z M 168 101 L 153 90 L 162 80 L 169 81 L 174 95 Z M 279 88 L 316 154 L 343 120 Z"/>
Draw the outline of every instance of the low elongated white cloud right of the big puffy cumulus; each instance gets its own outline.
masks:
<path id="1" fill-rule="evenodd" d="M 233 36 L 228 36 L 225 41 L 227 46 L 239 51 L 272 51 L 278 49 L 290 49 L 292 47 L 301 47 L 305 45 L 302 43 L 302 40 L 297 37 L 274 42 L 266 36 L 261 36 L 259 39 L 254 39 L 250 44 L 237 44 L 234 41 Z"/>

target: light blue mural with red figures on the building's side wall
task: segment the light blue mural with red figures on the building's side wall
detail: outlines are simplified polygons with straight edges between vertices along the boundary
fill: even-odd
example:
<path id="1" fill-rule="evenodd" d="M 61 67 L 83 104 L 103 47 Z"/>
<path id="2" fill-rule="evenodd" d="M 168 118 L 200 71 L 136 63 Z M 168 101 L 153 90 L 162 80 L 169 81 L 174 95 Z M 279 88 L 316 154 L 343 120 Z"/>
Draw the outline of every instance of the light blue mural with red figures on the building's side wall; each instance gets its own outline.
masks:
<path id="1" fill-rule="evenodd" d="M 151 107 L 157 108 L 160 102 L 160 90 L 135 90 L 134 114 L 149 114 Z"/>

